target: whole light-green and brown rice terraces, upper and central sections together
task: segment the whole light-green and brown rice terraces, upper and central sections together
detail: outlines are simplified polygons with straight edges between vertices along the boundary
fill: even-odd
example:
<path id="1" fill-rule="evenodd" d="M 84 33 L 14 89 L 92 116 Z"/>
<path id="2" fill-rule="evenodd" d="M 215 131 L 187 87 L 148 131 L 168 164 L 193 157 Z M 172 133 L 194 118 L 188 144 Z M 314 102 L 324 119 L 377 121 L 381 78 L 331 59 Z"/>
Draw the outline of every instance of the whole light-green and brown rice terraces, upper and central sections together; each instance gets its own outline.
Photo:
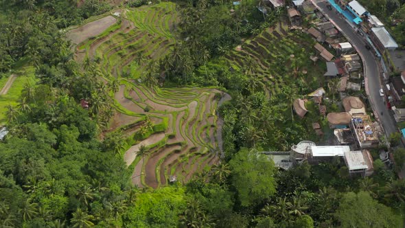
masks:
<path id="1" fill-rule="evenodd" d="M 175 42 L 176 5 L 165 2 L 120 11 L 117 23 L 76 47 L 76 60 L 98 59 L 104 79 L 120 82 L 113 95 L 116 112 L 106 131 L 122 130 L 126 136 L 124 161 L 133 168 L 132 183 L 159 187 L 172 175 L 188 181 L 219 161 L 222 122 L 216 109 L 230 97 L 216 89 L 142 84 L 137 78 L 148 62 L 163 58 Z M 148 148 L 146 155 L 137 155 L 141 145 Z"/>

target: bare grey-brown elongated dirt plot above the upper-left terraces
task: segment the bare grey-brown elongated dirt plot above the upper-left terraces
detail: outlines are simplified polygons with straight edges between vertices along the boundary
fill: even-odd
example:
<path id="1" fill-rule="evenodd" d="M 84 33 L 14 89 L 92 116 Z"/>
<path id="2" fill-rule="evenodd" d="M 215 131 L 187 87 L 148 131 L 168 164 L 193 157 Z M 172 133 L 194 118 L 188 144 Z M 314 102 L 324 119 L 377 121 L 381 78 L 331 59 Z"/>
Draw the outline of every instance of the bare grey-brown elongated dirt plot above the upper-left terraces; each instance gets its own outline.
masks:
<path id="1" fill-rule="evenodd" d="M 106 16 L 102 19 L 91 21 L 74 30 L 70 30 L 66 36 L 74 44 L 82 43 L 90 37 L 97 36 L 106 30 L 108 27 L 117 22 L 114 16 Z"/>

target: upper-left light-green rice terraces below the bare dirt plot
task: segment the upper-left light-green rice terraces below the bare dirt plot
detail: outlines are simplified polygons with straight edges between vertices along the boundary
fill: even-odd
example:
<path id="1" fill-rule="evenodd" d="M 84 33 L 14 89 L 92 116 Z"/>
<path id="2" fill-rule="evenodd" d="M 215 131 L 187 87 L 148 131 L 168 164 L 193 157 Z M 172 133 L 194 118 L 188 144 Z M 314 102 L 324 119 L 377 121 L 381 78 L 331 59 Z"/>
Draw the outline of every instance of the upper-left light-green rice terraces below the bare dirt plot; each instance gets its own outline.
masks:
<path id="1" fill-rule="evenodd" d="M 106 75 L 119 77 L 126 72 L 140 76 L 148 60 L 162 58 L 174 44 L 176 5 L 165 2 L 120 11 L 117 23 L 78 45 L 76 60 L 100 58 Z M 138 65 L 140 56 L 145 60 Z"/>

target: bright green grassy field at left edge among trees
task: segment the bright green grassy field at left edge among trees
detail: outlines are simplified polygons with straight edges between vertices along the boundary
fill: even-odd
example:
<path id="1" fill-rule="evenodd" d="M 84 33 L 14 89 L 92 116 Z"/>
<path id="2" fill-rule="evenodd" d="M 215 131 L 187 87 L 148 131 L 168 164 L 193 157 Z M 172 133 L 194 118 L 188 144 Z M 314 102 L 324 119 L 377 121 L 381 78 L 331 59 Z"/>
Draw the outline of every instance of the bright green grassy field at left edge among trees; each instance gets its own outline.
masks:
<path id="1" fill-rule="evenodd" d="M 10 90 L 5 95 L 0 95 L 0 125 L 5 124 L 7 121 L 5 119 L 5 111 L 7 106 L 10 104 L 12 106 L 17 105 L 17 101 L 21 95 L 24 84 L 27 82 L 34 82 L 34 67 L 22 67 L 19 71 L 15 72 L 17 77 L 14 80 Z M 3 88 L 5 82 L 7 82 L 8 77 L 0 79 L 0 87 Z"/>

